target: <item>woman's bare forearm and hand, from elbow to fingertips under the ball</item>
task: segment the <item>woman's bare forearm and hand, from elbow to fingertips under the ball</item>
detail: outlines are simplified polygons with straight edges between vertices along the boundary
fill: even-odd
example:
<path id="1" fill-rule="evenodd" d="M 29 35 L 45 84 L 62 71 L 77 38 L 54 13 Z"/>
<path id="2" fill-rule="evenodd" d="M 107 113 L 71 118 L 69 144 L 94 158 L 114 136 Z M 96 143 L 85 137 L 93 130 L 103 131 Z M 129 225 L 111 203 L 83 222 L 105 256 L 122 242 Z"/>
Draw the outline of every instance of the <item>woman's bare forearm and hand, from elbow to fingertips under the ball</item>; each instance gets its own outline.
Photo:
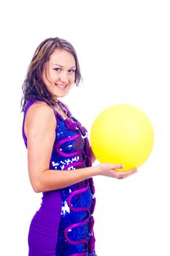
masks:
<path id="1" fill-rule="evenodd" d="M 69 187 L 93 176 L 108 176 L 112 178 L 127 178 L 136 173 L 136 168 L 121 171 L 123 165 L 102 163 L 95 167 L 85 167 L 76 170 L 45 170 L 31 178 L 35 192 L 45 192 Z M 118 170 L 117 170 L 118 169 Z"/>

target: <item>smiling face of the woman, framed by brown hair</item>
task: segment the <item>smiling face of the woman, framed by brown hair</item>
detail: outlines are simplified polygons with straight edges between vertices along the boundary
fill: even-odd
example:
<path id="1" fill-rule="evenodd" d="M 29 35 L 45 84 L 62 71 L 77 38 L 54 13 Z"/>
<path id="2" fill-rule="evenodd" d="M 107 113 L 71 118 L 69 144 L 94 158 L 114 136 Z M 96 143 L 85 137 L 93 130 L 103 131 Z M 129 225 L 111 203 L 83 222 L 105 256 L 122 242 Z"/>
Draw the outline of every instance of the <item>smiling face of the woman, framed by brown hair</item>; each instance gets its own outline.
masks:
<path id="1" fill-rule="evenodd" d="M 75 80 L 76 62 L 66 50 L 56 49 L 42 72 L 42 80 L 54 99 L 69 93 Z"/>

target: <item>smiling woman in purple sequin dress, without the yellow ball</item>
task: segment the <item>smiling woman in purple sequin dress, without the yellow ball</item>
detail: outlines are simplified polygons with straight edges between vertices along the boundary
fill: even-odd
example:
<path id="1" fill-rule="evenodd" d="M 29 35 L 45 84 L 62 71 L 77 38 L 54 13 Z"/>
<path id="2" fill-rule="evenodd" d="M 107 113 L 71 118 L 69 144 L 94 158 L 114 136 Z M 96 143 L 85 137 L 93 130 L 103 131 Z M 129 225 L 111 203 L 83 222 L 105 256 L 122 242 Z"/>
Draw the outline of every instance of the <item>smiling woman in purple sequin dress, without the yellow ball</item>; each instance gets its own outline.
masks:
<path id="1" fill-rule="evenodd" d="M 84 127 L 58 99 L 81 80 L 73 46 L 48 38 L 34 53 L 23 83 L 23 139 L 28 173 L 42 204 L 31 221 L 29 256 L 95 256 L 93 176 L 125 178 L 136 172 L 95 161 Z"/>

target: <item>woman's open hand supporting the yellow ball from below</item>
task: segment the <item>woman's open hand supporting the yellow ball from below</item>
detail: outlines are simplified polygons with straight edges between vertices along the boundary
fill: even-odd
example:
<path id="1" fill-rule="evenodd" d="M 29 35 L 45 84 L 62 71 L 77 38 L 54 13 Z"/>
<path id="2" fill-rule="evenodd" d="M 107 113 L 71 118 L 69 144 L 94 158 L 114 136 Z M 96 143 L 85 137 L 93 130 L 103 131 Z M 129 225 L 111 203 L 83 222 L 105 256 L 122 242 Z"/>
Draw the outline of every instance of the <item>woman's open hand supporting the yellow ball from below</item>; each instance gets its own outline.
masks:
<path id="1" fill-rule="evenodd" d="M 114 164 L 107 164 L 101 163 L 96 166 L 98 170 L 98 175 L 108 176 L 112 178 L 127 178 L 132 174 L 136 173 L 136 168 L 131 170 L 117 170 L 123 168 L 123 165 L 114 165 Z"/>

